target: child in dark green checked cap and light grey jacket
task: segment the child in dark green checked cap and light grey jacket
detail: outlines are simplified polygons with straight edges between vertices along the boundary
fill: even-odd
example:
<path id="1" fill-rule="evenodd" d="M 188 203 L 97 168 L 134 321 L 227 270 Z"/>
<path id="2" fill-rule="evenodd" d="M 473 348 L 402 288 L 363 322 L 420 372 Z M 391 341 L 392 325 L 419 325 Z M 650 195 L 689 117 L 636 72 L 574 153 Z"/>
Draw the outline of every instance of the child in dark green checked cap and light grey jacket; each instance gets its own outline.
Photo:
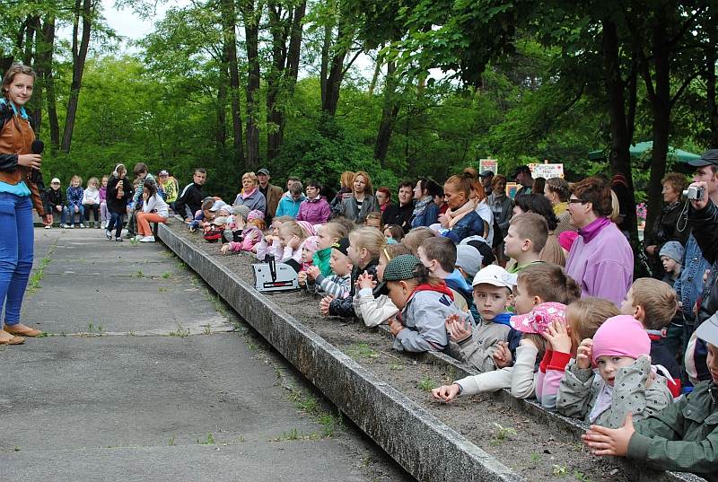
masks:
<path id="1" fill-rule="evenodd" d="M 453 303 L 451 290 L 431 276 L 421 260 L 410 254 L 391 259 L 384 270 L 389 297 L 399 312 L 390 323 L 394 349 L 407 352 L 442 351 L 449 343 L 446 317 L 457 314 L 470 323 L 470 315 Z"/>

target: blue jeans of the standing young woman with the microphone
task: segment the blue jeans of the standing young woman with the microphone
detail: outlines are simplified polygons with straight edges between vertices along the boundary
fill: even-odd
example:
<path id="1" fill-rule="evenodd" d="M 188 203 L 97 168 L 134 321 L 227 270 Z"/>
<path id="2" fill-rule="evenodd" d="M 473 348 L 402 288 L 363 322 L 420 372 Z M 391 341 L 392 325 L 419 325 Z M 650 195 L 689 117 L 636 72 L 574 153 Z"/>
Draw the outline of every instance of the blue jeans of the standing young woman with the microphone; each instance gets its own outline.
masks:
<path id="1" fill-rule="evenodd" d="M 30 196 L 0 192 L 0 232 L 0 309 L 4 305 L 5 325 L 12 326 L 20 323 L 32 268 L 35 232 Z"/>

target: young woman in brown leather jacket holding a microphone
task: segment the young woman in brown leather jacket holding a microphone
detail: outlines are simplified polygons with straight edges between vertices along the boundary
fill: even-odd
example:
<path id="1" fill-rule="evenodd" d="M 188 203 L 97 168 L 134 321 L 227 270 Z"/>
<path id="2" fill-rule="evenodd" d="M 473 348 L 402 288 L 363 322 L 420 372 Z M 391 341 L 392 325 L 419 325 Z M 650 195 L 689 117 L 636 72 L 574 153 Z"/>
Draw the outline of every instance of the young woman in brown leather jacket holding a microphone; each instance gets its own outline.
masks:
<path id="1" fill-rule="evenodd" d="M 39 189 L 42 158 L 31 153 L 35 133 L 25 105 L 32 97 L 35 73 L 15 64 L 5 72 L 0 98 L 0 311 L 4 305 L 4 328 L 0 345 L 18 345 L 23 337 L 37 337 L 39 329 L 20 322 L 20 309 L 33 258 L 32 206 L 50 223 Z M 35 172 L 33 172 L 35 170 Z M 34 180 L 34 181 L 33 181 Z M 3 327 L 0 321 L 0 328 Z"/>

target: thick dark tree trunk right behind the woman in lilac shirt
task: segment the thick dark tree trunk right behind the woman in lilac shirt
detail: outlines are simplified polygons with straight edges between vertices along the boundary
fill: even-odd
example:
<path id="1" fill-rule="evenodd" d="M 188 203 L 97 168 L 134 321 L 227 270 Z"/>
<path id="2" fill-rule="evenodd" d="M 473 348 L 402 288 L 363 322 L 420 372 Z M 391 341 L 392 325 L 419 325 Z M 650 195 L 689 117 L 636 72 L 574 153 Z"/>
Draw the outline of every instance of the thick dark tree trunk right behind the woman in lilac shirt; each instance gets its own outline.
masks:
<path id="1" fill-rule="evenodd" d="M 617 25 L 609 19 L 603 19 L 603 70 L 606 77 L 606 92 L 609 98 L 609 115 L 611 128 L 610 165 L 613 174 L 623 174 L 628 184 L 631 206 L 635 206 L 634 181 L 631 174 L 631 154 L 629 148 L 632 141 L 633 117 L 626 118 L 626 95 L 621 77 L 621 60 L 618 48 Z M 635 83 L 633 83 L 635 87 Z M 635 99 L 635 95 L 629 92 Z M 632 107 L 629 102 L 629 112 Z M 630 124 L 630 125 L 629 125 Z M 624 225 L 628 226 L 632 245 L 636 251 L 638 232 L 635 209 L 626 213 Z"/>

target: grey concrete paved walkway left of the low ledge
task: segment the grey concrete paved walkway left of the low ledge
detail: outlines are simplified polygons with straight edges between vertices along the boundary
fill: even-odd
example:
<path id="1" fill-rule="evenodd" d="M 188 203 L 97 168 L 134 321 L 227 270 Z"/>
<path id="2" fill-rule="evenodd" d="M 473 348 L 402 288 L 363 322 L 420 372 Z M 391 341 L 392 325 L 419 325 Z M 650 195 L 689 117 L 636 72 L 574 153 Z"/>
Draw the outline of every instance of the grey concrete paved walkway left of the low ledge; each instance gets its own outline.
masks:
<path id="1" fill-rule="evenodd" d="M 23 320 L 50 336 L 0 346 L 0 480 L 407 479 L 162 244 L 35 250 Z"/>

